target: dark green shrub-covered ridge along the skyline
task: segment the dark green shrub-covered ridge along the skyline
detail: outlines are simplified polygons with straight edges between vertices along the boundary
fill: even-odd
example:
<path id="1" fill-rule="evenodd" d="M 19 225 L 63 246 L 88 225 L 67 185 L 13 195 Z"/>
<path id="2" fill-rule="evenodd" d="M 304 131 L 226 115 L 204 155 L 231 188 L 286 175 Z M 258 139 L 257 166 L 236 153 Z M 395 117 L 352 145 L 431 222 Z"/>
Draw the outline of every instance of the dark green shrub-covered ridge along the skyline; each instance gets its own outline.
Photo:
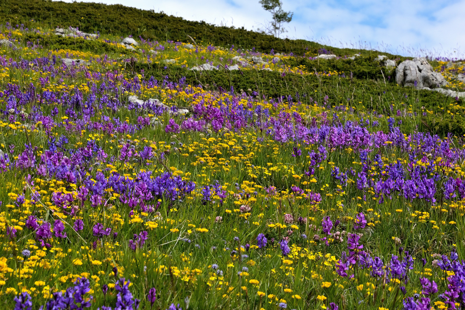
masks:
<path id="1" fill-rule="evenodd" d="M 31 21 L 33 20 L 33 21 Z M 307 40 L 279 39 L 263 33 L 235 27 L 220 27 L 206 22 L 185 20 L 181 17 L 156 13 L 153 10 L 140 10 L 122 5 L 101 3 L 65 3 L 47 0 L 8 0 L 0 1 L 0 22 L 33 26 L 35 22 L 55 26 L 78 26 L 86 32 L 103 32 L 115 35 L 141 36 L 145 40 L 190 41 L 187 35 L 197 41 L 216 46 L 253 48 L 269 53 L 321 53 L 322 49 L 338 56 L 362 53 L 378 55 L 376 51 L 335 48 Z M 326 52 L 326 51 L 325 51 Z M 326 52 L 327 53 L 327 52 Z M 391 58 L 391 57 L 390 57 Z"/>

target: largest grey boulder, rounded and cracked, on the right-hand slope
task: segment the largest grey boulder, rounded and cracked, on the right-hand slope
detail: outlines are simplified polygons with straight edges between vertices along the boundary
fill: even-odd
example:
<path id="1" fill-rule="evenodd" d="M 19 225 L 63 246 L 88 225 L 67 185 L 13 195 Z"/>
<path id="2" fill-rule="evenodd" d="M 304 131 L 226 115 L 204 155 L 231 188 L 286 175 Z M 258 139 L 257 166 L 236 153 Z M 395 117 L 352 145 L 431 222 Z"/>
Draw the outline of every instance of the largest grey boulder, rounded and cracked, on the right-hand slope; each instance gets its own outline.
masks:
<path id="1" fill-rule="evenodd" d="M 447 84 L 442 74 L 433 71 L 424 57 L 402 61 L 396 69 L 396 82 L 400 86 L 414 86 L 417 89 L 437 88 Z"/>

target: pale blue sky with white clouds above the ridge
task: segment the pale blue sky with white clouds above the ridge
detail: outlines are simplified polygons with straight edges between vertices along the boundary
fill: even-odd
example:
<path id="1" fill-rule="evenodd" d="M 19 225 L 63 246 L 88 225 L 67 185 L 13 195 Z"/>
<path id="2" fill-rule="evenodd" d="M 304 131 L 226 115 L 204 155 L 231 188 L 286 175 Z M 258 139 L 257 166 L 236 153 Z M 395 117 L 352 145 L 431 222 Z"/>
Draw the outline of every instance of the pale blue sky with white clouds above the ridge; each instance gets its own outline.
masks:
<path id="1" fill-rule="evenodd" d="M 465 0 L 282 0 L 289 38 L 402 55 L 465 58 Z M 71 2 L 71 0 L 66 0 Z M 100 0 L 256 29 L 270 19 L 259 0 Z"/>

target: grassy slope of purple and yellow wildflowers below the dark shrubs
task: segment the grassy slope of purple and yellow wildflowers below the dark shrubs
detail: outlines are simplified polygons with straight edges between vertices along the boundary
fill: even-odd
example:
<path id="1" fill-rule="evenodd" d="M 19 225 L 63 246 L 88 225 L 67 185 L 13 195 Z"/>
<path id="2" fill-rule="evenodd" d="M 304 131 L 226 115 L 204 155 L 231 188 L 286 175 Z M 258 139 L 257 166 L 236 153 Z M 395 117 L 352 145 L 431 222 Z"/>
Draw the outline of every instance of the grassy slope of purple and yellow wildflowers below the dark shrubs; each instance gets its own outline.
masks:
<path id="1" fill-rule="evenodd" d="M 463 307 L 464 141 L 415 132 L 425 108 L 206 91 L 15 44 L 3 308 Z"/>

